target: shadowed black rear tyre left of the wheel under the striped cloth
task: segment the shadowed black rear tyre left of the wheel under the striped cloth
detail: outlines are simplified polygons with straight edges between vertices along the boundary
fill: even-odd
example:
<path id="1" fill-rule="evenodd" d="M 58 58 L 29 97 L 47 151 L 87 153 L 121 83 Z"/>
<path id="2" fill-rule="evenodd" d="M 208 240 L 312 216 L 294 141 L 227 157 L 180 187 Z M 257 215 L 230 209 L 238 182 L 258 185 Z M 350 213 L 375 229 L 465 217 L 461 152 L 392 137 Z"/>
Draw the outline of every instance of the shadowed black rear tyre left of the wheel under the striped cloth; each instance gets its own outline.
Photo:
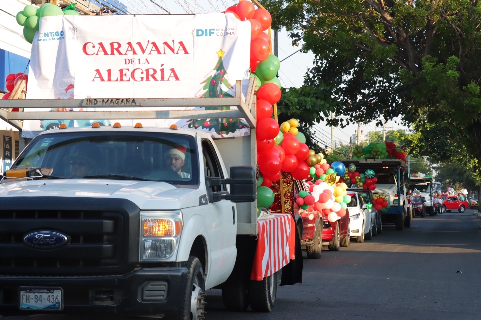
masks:
<path id="1" fill-rule="evenodd" d="M 229 311 L 245 311 L 249 307 L 249 284 L 244 281 L 241 272 L 223 283 L 222 300 Z"/>

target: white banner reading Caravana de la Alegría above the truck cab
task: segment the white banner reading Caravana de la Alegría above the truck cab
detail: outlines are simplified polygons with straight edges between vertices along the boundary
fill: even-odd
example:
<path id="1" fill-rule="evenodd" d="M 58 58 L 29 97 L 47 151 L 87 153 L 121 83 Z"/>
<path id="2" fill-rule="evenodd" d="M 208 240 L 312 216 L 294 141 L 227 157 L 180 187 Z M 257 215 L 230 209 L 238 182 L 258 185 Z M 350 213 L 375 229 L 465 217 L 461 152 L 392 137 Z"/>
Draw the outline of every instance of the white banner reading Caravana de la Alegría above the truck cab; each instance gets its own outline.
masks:
<path id="1" fill-rule="evenodd" d="M 229 97 L 235 95 L 236 80 L 242 80 L 245 95 L 250 41 L 250 22 L 225 13 L 43 17 L 32 44 L 26 98 Z M 214 136 L 249 134 L 238 120 L 227 125 L 221 119 L 149 121 L 173 122 Z M 25 136 L 57 123 L 89 125 L 28 121 Z"/>

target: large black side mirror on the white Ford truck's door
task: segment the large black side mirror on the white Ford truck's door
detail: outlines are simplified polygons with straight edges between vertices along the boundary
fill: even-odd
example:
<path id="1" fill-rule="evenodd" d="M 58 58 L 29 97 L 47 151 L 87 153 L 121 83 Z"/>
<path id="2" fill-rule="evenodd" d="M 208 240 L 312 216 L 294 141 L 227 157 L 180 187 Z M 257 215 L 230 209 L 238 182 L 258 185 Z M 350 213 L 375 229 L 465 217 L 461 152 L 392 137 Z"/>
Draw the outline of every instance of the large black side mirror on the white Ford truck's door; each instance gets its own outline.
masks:
<path id="1" fill-rule="evenodd" d="M 209 202 L 224 199 L 232 202 L 253 202 L 257 196 L 255 171 L 251 166 L 232 166 L 230 167 L 230 178 L 205 177 L 205 184 Z M 213 185 L 230 185 L 230 193 L 227 191 L 213 192 L 211 188 Z"/>

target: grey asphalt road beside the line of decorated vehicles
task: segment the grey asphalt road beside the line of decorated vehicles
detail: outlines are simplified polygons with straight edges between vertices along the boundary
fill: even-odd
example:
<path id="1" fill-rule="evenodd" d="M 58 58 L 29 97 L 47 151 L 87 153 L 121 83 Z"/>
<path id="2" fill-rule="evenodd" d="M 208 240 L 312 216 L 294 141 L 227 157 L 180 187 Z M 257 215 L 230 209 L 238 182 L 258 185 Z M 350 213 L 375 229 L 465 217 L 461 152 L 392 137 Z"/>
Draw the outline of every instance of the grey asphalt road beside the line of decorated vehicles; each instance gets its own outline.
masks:
<path id="1" fill-rule="evenodd" d="M 208 290 L 206 320 L 480 320 L 481 219 L 472 212 L 416 218 L 404 231 L 386 226 L 373 240 L 324 251 L 319 260 L 305 258 L 303 283 L 278 287 L 271 313 L 228 312 L 220 290 Z"/>

